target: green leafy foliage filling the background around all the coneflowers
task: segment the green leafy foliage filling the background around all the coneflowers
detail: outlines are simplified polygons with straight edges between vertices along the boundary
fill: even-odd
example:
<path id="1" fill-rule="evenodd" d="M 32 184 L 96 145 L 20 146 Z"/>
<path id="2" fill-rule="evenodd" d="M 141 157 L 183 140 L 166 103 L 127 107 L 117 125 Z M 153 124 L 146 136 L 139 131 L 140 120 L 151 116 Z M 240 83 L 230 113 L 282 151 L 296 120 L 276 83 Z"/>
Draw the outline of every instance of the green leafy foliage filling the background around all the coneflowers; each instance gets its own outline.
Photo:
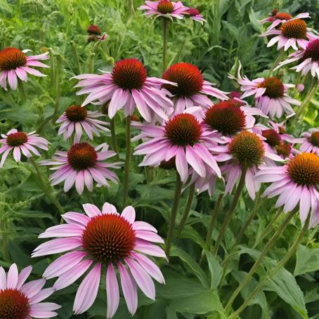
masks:
<path id="1" fill-rule="evenodd" d="M 116 0 L 0 0 L 0 45 L 30 48 L 34 54 L 51 48 L 55 65 L 47 71 L 45 79 L 30 79 L 25 89 L 27 102 L 22 103 L 19 93 L 0 93 L 0 131 L 6 133 L 16 127 L 33 131 L 53 114 L 55 108 L 60 115 L 72 103 L 79 103 L 74 93 L 74 81 L 70 77 L 87 72 L 92 63 L 93 44 L 86 45 L 86 27 L 97 24 L 109 35 L 102 47 L 96 48 L 94 71 L 110 70 L 115 60 L 136 57 L 143 60 L 151 76 L 161 76 L 162 67 L 162 33 L 157 20 L 145 19 L 138 11 L 142 1 Z M 258 20 L 268 15 L 273 8 L 289 13 L 309 11 L 312 25 L 319 27 L 319 4 L 315 0 L 273 1 L 273 0 L 198 0 L 185 1 L 186 6 L 200 9 L 207 23 L 204 26 L 191 20 L 174 22 L 169 30 L 168 60 L 194 63 L 204 72 L 204 77 L 218 84 L 223 91 L 235 88 L 227 74 L 237 67 L 237 59 L 242 62 L 245 74 L 249 78 L 267 74 L 273 60 L 277 57 L 275 48 L 266 48 L 266 40 L 259 37 L 262 31 Z M 77 57 L 78 56 L 78 60 Z M 91 59 L 91 60 L 90 60 Z M 51 65 L 52 66 L 52 65 Z M 56 83 L 52 82 L 51 72 L 55 72 Z M 280 71 L 284 82 L 298 83 L 293 72 Z M 299 96 L 302 99 L 302 96 Z M 304 122 L 290 132 L 299 136 L 301 131 L 310 126 L 318 126 L 319 93 L 311 101 Z M 124 125 L 122 117 L 117 115 L 118 143 L 120 157 L 124 159 Z M 41 134 L 51 142 L 51 148 L 44 157 L 53 155 L 56 148 L 67 148 L 56 135 L 55 124 L 42 125 Z M 108 141 L 110 136 L 95 138 L 96 145 Z M 165 237 L 169 207 L 173 197 L 174 174 L 158 170 L 154 180 L 148 184 L 143 169 L 138 168 L 140 157 L 132 157 L 130 173 L 130 202 L 136 207 L 138 218 L 149 221 Z M 48 171 L 42 170 L 44 176 Z M 117 171 L 122 181 L 123 172 Z M 7 160 L 0 170 L 0 221 L 3 254 L 0 264 L 9 266 L 11 262 L 19 268 L 32 264 L 34 278 L 39 277 L 50 259 L 31 259 L 30 253 L 39 245 L 37 235 L 45 228 L 54 226 L 60 221 L 56 208 L 48 202 L 32 166 L 27 162 L 16 164 Z M 216 197 L 223 191 L 223 185 L 217 185 L 214 197 L 204 193 L 194 200 L 188 226 L 175 242 L 171 262 L 164 266 L 164 277 L 167 285 L 157 286 L 156 302 L 139 298 L 139 308 L 134 318 L 176 319 L 176 318 L 224 318 L 221 301 L 227 300 L 237 282 L 244 278 L 252 266 L 262 245 L 252 247 L 256 238 L 262 233 L 267 223 L 273 218 L 275 210 L 273 200 L 265 202 L 258 212 L 258 219 L 249 226 L 237 254 L 231 259 L 231 274 L 224 282 L 221 292 L 216 287 L 221 279 L 221 264 L 207 253 L 208 263 L 199 266 L 198 260 L 202 248 L 205 249 L 204 237 L 209 223 L 209 215 L 216 202 Z M 101 206 L 111 202 L 118 208 L 122 203 L 121 185 L 112 185 L 109 190 L 95 188 L 94 192 L 79 196 L 74 189 L 67 194 L 58 185 L 53 195 L 57 197 L 65 211 L 81 211 L 82 203 L 93 202 Z M 181 202 L 183 212 L 187 190 Z M 230 197 L 226 197 L 224 207 L 227 209 Z M 245 218 L 254 203 L 244 194 L 237 207 L 236 219 L 226 233 L 226 249 L 231 247 L 234 236 L 240 230 Z M 219 223 L 223 214 L 219 216 Z M 278 226 L 280 219 L 275 223 Z M 276 260 L 285 255 L 292 245 L 294 235 L 300 228 L 299 220 L 285 230 L 284 235 L 259 268 L 258 275 L 235 301 L 235 307 L 242 303 L 256 282 L 263 278 L 266 269 L 271 268 Z M 213 237 L 216 237 L 214 233 Z M 318 233 L 311 230 L 307 233 L 303 245 L 299 246 L 297 258 L 289 261 L 262 292 L 254 298 L 242 318 L 319 318 L 319 245 Z M 102 280 L 103 282 L 103 280 Z M 49 282 L 48 284 L 52 284 Z M 53 294 L 51 299 L 62 304 L 59 318 L 72 317 L 74 284 Z M 105 318 L 105 289 L 93 307 L 77 318 Z M 121 306 L 115 318 L 129 318 L 126 306 Z"/>

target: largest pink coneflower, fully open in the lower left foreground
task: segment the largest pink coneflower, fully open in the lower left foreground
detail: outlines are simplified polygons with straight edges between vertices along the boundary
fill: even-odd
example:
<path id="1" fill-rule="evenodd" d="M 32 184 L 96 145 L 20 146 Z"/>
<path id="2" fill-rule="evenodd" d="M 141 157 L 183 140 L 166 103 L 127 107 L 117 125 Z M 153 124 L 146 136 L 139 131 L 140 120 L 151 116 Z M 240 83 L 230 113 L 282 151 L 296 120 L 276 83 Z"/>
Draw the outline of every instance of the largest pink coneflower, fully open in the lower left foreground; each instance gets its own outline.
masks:
<path id="1" fill-rule="evenodd" d="M 84 313 L 96 299 L 100 284 L 101 268 L 106 271 L 108 301 L 107 318 L 112 318 L 119 306 L 119 284 L 129 312 L 134 315 L 138 305 L 137 286 L 150 299 L 155 299 L 152 278 L 164 283 L 159 267 L 147 256 L 166 258 L 162 248 L 153 242 L 164 243 L 157 230 L 149 223 L 135 221 L 133 207 L 125 207 L 122 214 L 108 202 L 102 211 L 93 204 L 84 204 L 86 215 L 67 212 L 62 217 L 66 224 L 48 228 L 40 238 L 58 237 L 34 249 L 32 257 L 66 254 L 58 257 L 44 271 L 44 278 L 58 277 L 53 288 L 63 289 L 72 285 L 86 271 L 77 289 L 73 311 Z M 89 270 L 89 268 L 91 268 Z"/>

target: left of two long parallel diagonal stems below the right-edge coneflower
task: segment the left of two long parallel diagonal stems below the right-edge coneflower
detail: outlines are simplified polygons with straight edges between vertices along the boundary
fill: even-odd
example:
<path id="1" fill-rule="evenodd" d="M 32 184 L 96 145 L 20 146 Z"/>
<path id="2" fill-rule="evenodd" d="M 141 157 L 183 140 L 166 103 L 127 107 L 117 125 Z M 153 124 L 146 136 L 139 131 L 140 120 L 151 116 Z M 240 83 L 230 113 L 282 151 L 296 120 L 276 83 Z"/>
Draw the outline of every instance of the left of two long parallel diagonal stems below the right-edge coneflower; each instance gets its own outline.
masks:
<path id="1" fill-rule="evenodd" d="M 226 304 L 226 307 L 225 307 L 225 312 L 226 313 L 229 313 L 230 307 L 232 306 L 235 298 L 238 296 L 238 294 L 240 294 L 240 292 L 242 291 L 242 288 L 245 287 L 247 282 L 249 282 L 249 280 L 252 278 L 252 275 L 254 275 L 256 269 L 259 267 L 261 261 L 263 260 L 263 257 L 266 256 L 266 254 L 269 252 L 271 247 L 273 247 L 273 245 L 275 244 L 275 241 L 278 239 L 278 237 L 280 237 L 282 232 L 285 230 L 285 228 L 288 225 L 290 219 L 292 219 L 292 217 L 294 216 L 296 211 L 297 211 L 297 209 L 294 209 L 293 211 L 290 211 L 289 214 L 287 215 L 287 217 L 284 219 L 284 221 L 282 221 L 282 223 L 280 225 L 280 228 L 275 232 L 273 237 L 271 237 L 271 240 L 269 240 L 267 245 L 263 248 L 263 251 L 259 255 L 258 259 L 256 259 L 254 265 L 250 269 L 250 271 L 247 274 L 245 280 L 243 280 L 240 283 L 240 285 L 237 287 L 237 289 L 235 289 L 235 292 L 233 292 L 233 294 L 230 296 L 230 299 L 228 300 L 228 303 Z"/>

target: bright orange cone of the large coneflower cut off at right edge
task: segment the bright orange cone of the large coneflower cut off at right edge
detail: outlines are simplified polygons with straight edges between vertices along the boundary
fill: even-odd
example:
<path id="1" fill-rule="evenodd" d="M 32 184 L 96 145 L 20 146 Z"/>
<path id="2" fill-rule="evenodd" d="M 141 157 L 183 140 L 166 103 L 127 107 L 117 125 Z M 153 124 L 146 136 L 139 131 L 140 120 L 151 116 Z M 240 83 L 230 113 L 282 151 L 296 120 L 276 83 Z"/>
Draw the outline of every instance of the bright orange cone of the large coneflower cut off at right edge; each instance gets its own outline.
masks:
<path id="1" fill-rule="evenodd" d="M 301 153 L 290 159 L 287 173 L 298 185 L 319 184 L 319 156 L 313 153 Z"/>

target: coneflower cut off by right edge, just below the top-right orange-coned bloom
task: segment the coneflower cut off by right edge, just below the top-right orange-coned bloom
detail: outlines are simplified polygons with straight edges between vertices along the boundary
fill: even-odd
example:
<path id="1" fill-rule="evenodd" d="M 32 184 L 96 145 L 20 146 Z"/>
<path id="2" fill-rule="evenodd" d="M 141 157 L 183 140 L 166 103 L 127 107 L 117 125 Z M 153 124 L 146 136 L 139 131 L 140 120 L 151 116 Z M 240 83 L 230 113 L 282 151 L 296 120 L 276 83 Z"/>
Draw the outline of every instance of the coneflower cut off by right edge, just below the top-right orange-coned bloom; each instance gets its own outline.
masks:
<path id="1" fill-rule="evenodd" d="M 301 71 L 302 75 L 306 75 L 310 71 L 313 77 L 318 77 L 319 79 L 319 39 L 310 41 L 305 50 L 299 50 L 290 54 L 287 60 L 279 63 L 278 67 L 295 61 L 298 61 L 299 65 L 291 67 L 292 70 L 296 70 L 296 72 Z"/>

